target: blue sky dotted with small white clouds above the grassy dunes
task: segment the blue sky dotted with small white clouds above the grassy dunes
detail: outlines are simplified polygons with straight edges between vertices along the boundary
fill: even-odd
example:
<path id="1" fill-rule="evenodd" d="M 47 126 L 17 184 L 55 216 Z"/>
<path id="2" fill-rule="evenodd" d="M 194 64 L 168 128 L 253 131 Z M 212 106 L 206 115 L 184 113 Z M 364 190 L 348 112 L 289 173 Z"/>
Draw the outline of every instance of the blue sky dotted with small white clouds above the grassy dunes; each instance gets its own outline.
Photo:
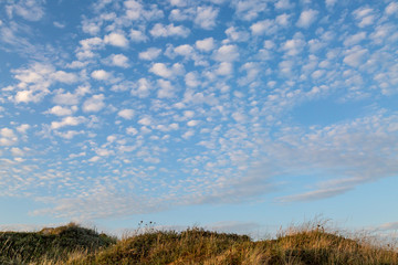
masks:
<path id="1" fill-rule="evenodd" d="M 0 227 L 398 230 L 398 2 L 0 0 Z"/>

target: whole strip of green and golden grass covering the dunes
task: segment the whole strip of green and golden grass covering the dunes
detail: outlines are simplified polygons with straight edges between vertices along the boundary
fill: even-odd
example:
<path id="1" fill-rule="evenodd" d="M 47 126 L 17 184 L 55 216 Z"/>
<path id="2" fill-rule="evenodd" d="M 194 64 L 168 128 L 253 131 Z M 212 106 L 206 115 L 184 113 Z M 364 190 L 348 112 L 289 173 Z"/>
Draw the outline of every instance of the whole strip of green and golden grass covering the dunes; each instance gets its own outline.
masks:
<path id="1" fill-rule="evenodd" d="M 247 235 L 193 227 L 182 232 L 137 232 L 115 240 L 70 224 L 36 233 L 0 233 L 0 264 L 398 264 L 391 245 L 366 236 L 347 239 L 321 224 L 291 227 L 276 239 L 253 242 Z"/>

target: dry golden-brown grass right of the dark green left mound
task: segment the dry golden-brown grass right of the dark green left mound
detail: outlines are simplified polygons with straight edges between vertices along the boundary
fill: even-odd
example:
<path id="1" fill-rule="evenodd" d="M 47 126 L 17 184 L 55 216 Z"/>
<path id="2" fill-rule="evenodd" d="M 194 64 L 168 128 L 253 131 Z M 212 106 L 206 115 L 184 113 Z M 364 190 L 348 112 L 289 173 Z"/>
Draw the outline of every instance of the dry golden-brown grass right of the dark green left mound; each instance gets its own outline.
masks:
<path id="1" fill-rule="evenodd" d="M 74 250 L 63 258 L 44 255 L 31 263 L 23 258 L 14 256 L 13 261 L 10 259 L 13 263 L 1 263 L 0 259 L 0 264 L 398 265 L 394 246 L 364 235 L 347 239 L 337 231 L 325 230 L 322 223 L 292 226 L 281 231 L 276 239 L 256 242 L 245 235 L 198 227 L 184 232 L 151 229 L 95 252 Z"/>

